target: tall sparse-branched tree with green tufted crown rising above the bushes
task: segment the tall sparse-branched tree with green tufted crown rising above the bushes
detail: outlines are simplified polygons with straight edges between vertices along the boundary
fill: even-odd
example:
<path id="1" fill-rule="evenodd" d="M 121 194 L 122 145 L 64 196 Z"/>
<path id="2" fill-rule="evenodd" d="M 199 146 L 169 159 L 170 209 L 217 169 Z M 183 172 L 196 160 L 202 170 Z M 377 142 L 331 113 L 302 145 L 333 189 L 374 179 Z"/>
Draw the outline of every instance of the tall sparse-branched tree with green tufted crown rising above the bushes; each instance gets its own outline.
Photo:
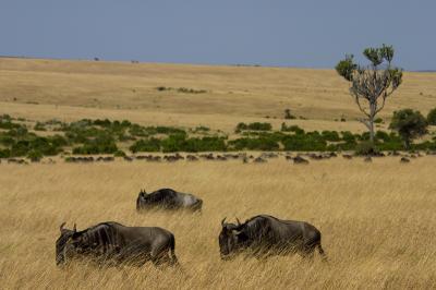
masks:
<path id="1" fill-rule="evenodd" d="M 393 47 L 366 48 L 363 55 L 371 64 L 363 67 L 353 62 L 353 55 L 339 61 L 336 71 L 350 82 L 350 94 L 366 118 L 359 119 L 370 130 L 374 143 L 374 119 L 385 107 L 386 99 L 400 86 L 402 70 L 391 64 Z"/>

